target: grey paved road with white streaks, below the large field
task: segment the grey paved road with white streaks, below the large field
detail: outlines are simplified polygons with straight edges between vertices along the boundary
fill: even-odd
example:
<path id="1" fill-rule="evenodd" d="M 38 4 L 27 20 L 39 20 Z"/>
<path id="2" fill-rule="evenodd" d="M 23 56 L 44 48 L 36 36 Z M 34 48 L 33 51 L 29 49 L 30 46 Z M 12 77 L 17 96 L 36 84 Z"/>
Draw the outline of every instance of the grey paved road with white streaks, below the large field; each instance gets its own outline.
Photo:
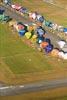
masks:
<path id="1" fill-rule="evenodd" d="M 43 91 L 43 90 L 45 91 L 45 90 L 50 90 L 58 87 L 67 87 L 67 79 L 40 81 L 37 83 L 30 83 L 30 84 L 17 85 L 17 86 L 6 86 L 6 87 L 1 86 L 0 96 L 17 95 L 22 93 Z"/>

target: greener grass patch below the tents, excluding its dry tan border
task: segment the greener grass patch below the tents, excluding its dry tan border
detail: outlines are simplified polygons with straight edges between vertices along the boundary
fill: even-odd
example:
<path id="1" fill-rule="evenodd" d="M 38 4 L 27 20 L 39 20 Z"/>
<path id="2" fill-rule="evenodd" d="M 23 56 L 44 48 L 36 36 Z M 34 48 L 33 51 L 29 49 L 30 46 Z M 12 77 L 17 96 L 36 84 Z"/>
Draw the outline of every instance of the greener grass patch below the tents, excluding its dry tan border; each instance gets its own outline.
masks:
<path id="1" fill-rule="evenodd" d="M 42 54 L 16 39 L 7 25 L 0 25 L 0 57 L 15 74 L 49 70 L 52 66 Z M 16 33 L 17 35 L 17 33 Z"/>

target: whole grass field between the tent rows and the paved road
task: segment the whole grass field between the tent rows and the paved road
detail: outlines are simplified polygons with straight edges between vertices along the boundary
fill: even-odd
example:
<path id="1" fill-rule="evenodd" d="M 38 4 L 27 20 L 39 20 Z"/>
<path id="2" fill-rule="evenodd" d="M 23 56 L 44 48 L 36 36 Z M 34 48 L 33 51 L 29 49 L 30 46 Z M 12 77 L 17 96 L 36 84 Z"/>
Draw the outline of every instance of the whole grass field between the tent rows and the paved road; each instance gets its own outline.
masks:
<path id="1" fill-rule="evenodd" d="M 8 24 L 6 26 L 0 24 L 0 74 L 2 76 L 0 80 L 21 83 L 67 76 L 64 74 L 67 69 L 66 61 L 38 52 L 25 44 L 23 39 L 16 32 L 12 32 Z M 57 76 L 52 75 L 51 72 L 55 75 L 57 73 Z"/>

